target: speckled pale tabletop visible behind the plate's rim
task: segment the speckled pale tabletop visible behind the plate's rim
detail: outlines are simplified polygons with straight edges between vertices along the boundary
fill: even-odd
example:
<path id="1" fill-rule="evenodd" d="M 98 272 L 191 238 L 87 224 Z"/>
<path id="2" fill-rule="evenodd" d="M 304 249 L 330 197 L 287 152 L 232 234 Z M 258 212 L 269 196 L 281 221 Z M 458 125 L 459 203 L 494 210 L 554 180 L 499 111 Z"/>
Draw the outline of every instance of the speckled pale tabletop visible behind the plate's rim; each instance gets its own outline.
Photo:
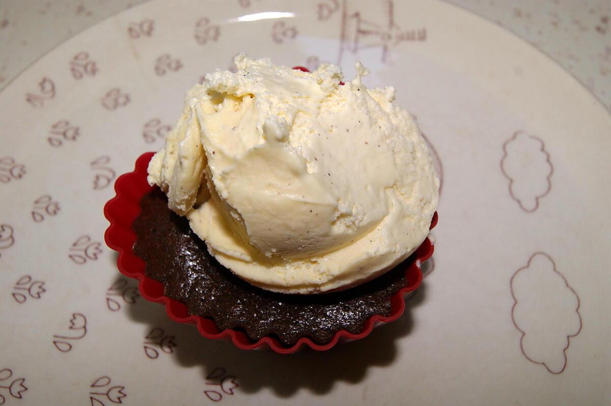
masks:
<path id="1" fill-rule="evenodd" d="M 145 1 L 1 0 L 0 90 L 68 38 Z M 447 1 L 524 38 L 560 63 L 611 110 L 610 1 Z"/>

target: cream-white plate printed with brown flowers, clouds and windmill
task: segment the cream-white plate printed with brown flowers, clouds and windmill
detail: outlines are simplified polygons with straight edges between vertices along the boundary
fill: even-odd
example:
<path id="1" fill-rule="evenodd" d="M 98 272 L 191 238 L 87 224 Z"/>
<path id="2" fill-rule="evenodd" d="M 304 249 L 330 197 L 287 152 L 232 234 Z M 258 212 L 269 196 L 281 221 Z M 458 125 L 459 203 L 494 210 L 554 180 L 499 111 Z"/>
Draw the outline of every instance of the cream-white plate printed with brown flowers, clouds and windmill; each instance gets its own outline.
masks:
<path id="1" fill-rule="evenodd" d="M 348 78 L 362 60 L 366 84 L 395 85 L 441 159 L 435 269 L 406 315 L 365 340 L 244 352 L 131 304 L 133 281 L 109 290 L 124 280 L 103 243 L 113 180 L 161 147 L 185 91 L 240 51 L 338 62 Z M 611 118 L 477 16 L 425 0 L 148 2 L 27 69 L 0 93 L 0 116 L 0 404 L 611 396 Z"/>

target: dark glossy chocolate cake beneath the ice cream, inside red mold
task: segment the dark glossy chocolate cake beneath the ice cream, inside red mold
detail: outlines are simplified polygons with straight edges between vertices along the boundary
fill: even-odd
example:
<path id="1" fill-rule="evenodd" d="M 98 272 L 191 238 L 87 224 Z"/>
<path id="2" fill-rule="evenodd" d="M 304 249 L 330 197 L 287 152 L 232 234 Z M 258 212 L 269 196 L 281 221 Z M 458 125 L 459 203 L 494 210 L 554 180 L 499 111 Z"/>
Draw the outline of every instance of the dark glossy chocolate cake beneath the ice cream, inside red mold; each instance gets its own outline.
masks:
<path id="1" fill-rule="evenodd" d="M 267 335 L 294 344 L 300 337 L 328 342 L 340 329 L 362 331 L 372 315 L 389 315 L 393 293 L 414 281 L 399 265 L 386 274 L 345 291 L 296 295 L 254 287 L 208 254 L 189 222 L 167 208 L 155 189 L 141 199 L 133 223 L 134 253 L 146 262 L 146 274 L 166 287 L 165 295 L 185 303 L 192 315 L 214 319 L 219 329 L 243 330 L 253 340 Z M 406 264 L 411 259 L 408 258 Z"/>

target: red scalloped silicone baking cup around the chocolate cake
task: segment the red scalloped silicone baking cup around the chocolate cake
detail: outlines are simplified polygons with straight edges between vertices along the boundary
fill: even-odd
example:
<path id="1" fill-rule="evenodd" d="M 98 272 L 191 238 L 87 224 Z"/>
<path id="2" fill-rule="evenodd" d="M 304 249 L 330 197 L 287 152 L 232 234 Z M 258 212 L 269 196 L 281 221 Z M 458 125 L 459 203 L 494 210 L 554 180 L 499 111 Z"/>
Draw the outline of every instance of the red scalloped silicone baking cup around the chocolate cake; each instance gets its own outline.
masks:
<path id="1" fill-rule="evenodd" d="M 142 196 L 153 190 L 147 183 L 148 162 L 153 157 L 153 152 L 142 154 L 136 160 L 136 168 L 133 172 L 123 174 L 115 182 L 114 198 L 104 205 L 104 216 L 111 223 L 104 239 L 111 249 L 119 252 L 117 267 L 125 276 L 137 279 L 142 297 L 148 301 L 163 303 L 166 305 L 167 315 L 170 319 L 181 323 L 195 324 L 197 329 L 206 338 L 232 341 L 236 347 L 241 349 L 257 349 L 269 346 L 273 351 L 280 354 L 291 354 L 301 346 L 308 346 L 316 351 L 326 351 L 334 347 L 340 340 L 359 340 L 367 337 L 375 324 L 395 321 L 405 310 L 404 295 L 416 290 L 422 282 L 421 264 L 433 255 L 433 243 L 426 238 L 420 247 L 410 257 L 409 264 L 404 262 L 401 266 L 406 266 L 405 278 L 410 282 L 408 287 L 397 291 L 390 298 L 390 315 L 371 316 L 363 326 L 363 330 L 358 334 L 349 333 L 346 330 L 338 330 L 331 340 L 325 344 L 318 344 L 309 337 L 302 337 L 292 346 L 286 346 L 274 337 L 263 337 L 260 340 L 252 340 L 246 333 L 238 330 L 219 330 L 213 319 L 189 315 L 184 303 L 178 302 L 170 297 L 164 296 L 164 285 L 155 279 L 145 275 L 145 262 L 137 257 L 133 252 L 136 233 L 131 229 L 136 217 L 140 214 L 140 200 Z M 437 224 L 437 213 L 433 216 L 431 229 Z"/>

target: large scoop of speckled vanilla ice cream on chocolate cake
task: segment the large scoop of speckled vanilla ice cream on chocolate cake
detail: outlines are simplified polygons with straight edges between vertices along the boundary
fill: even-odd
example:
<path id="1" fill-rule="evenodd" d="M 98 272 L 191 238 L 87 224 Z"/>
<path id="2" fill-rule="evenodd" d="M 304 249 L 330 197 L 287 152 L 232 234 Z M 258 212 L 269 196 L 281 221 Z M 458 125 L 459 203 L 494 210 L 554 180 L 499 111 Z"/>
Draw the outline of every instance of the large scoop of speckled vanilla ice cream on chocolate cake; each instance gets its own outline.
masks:
<path id="1" fill-rule="evenodd" d="M 340 85 L 245 55 L 189 91 L 148 182 L 225 267 L 259 287 L 318 293 L 365 282 L 428 235 L 439 180 L 392 87 Z"/>

